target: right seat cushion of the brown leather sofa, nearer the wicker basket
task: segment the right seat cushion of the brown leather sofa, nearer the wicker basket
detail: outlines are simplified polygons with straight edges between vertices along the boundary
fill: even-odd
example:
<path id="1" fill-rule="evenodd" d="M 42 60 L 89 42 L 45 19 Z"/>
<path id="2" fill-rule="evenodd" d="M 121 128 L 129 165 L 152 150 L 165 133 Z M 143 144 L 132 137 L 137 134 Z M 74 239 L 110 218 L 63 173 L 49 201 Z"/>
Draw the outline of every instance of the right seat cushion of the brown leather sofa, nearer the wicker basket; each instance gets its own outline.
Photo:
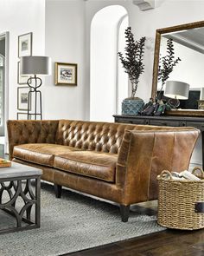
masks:
<path id="1" fill-rule="evenodd" d="M 114 182 L 117 161 L 118 154 L 76 151 L 55 156 L 54 167 L 65 172 Z"/>

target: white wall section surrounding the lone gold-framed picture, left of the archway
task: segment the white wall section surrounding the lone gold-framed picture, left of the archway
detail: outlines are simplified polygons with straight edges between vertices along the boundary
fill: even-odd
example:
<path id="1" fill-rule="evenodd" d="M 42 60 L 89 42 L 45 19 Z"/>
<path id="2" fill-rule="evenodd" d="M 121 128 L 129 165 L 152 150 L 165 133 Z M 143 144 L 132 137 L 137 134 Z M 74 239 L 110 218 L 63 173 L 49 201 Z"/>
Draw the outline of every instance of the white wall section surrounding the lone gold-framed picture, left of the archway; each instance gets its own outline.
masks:
<path id="1" fill-rule="evenodd" d="M 85 2 L 46 1 L 46 55 L 52 58 L 53 75 L 46 78 L 44 118 L 85 119 Z M 78 64 L 77 86 L 54 85 L 54 62 Z"/>

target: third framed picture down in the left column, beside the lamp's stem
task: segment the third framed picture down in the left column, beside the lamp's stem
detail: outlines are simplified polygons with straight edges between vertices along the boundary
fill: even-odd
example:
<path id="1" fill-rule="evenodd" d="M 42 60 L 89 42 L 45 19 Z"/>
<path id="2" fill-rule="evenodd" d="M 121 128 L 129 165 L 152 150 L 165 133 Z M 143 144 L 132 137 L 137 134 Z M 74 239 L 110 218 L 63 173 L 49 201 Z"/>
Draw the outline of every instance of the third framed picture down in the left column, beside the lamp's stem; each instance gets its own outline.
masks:
<path id="1" fill-rule="evenodd" d="M 17 109 L 18 110 L 31 110 L 31 97 L 29 101 L 29 87 L 18 87 L 17 88 Z"/>

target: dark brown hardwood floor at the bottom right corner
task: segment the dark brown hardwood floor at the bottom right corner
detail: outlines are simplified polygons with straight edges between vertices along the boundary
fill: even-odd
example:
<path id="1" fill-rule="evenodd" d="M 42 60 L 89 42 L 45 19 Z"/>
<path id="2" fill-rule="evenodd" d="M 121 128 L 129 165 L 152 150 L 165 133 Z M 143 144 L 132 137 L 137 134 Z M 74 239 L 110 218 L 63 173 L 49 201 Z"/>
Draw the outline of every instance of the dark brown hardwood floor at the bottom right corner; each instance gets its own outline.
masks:
<path id="1" fill-rule="evenodd" d="M 203 256 L 204 230 L 166 230 L 89 250 L 65 254 L 69 256 Z"/>

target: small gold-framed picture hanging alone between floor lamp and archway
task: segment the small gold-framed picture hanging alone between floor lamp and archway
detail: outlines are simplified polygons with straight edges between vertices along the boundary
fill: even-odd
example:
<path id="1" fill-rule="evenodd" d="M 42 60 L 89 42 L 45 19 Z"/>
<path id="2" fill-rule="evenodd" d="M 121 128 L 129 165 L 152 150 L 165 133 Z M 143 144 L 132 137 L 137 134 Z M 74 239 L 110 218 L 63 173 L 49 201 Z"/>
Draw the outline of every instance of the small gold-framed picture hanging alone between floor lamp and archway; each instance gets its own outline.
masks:
<path id="1" fill-rule="evenodd" d="M 77 64 L 55 62 L 55 84 L 77 85 Z"/>

